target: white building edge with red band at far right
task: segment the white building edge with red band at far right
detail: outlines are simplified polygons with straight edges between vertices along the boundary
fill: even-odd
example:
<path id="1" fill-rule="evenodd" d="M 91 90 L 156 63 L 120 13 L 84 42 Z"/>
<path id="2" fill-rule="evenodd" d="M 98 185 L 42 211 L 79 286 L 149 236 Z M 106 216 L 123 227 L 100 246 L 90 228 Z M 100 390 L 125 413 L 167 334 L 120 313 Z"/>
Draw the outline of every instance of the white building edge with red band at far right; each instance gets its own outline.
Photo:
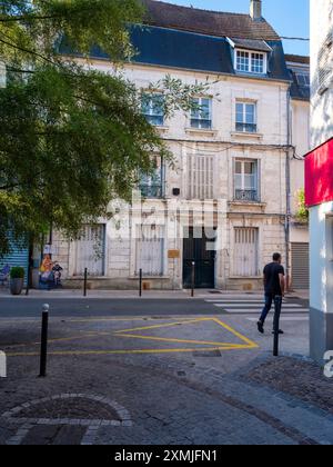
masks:
<path id="1" fill-rule="evenodd" d="M 333 1 L 311 1 L 311 147 L 305 160 L 310 207 L 311 356 L 333 349 Z"/>

